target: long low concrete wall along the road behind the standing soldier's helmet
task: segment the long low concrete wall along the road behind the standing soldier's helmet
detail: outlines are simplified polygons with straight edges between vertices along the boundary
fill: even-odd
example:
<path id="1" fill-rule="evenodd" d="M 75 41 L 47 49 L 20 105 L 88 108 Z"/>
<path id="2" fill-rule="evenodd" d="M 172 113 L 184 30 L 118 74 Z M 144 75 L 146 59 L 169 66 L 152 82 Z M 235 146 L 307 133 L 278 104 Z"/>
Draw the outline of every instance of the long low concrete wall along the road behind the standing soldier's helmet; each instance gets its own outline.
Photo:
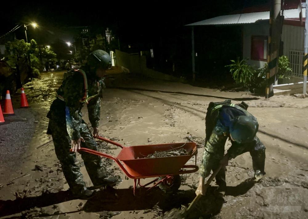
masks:
<path id="1" fill-rule="evenodd" d="M 125 72 L 140 73 L 147 77 L 162 79 L 167 81 L 177 81 L 184 82 L 184 79 L 176 78 L 171 75 L 155 71 L 153 69 L 147 68 L 146 56 L 140 56 L 140 54 L 128 54 L 126 52 L 121 52 L 120 50 L 115 50 L 116 66 L 122 68 Z"/>

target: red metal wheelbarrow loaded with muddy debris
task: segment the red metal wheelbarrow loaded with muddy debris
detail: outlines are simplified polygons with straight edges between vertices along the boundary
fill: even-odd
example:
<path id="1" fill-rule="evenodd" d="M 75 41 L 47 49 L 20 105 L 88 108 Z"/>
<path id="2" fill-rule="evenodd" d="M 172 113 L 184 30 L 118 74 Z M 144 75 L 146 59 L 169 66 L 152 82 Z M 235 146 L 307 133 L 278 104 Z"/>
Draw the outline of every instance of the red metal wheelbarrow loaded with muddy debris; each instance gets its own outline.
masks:
<path id="1" fill-rule="evenodd" d="M 154 185 L 149 187 L 148 190 L 158 185 L 160 189 L 165 192 L 175 192 L 181 185 L 180 174 L 194 173 L 199 169 L 197 167 L 197 145 L 194 142 L 124 147 L 123 145 L 109 139 L 100 136 L 97 138 L 110 144 L 114 144 L 122 148 L 122 150 L 117 157 L 87 148 L 80 148 L 78 151 L 84 151 L 101 157 L 113 159 L 129 178 L 134 179 L 134 195 L 137 186 L 146 187 L 152 183 L 154 183 Z M 168 151 L 178 148 L 185 149 L 187 151 L 187 155 L 142 158 L 148 156 L 149 154 L 153 154 L 156 151 Z M 195 165 L 185 165 L 186 162 L 193 156 L 196 156 Z M 140 184 L 140 179 L 153 177 L 158 178 L 148 182 L 145 185 Z"/>

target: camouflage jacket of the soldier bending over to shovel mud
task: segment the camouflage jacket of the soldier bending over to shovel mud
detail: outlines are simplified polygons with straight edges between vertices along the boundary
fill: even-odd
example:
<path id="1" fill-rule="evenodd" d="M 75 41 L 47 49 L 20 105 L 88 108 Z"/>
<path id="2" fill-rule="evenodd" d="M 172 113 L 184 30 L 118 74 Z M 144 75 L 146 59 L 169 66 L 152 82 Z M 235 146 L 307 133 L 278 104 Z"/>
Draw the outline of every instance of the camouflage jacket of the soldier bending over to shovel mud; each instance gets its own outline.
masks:
<path id="1" fill-rule="evenodd" d="M 235 105 L 233 103 L 225 105 L 235 107 L 241 110 L 246 116 L 252 117 L 253 120 L 257 121 L 257 119 L 252 114 L 250 114 L 247 110 L 243 109 L 242 107 Z M 218 117 L 220 109 L 219 106 L 217 106 L 216 109 L 213 109 L 211 112 L 212 116 L 210 117 L 210 119 L 211 123 L 213 124 L 212 126 L 213 130 L 209 136 L 206 136 L 205 150 L 210 154 L 214 153 L 217 150 L 217 148 L 221 148 L 222 146 L 224 146 L 227 138 L 229 137 L 229 128 L 225 127 Z M 242 151 L 244 151 L 246 146 L 247 146 L 246 144 L 235 144 L 234 142 L 232 142 L 232 146 L 228 150 L 229 157 L 235 158 L 236 156 L 241 154 Z"/>

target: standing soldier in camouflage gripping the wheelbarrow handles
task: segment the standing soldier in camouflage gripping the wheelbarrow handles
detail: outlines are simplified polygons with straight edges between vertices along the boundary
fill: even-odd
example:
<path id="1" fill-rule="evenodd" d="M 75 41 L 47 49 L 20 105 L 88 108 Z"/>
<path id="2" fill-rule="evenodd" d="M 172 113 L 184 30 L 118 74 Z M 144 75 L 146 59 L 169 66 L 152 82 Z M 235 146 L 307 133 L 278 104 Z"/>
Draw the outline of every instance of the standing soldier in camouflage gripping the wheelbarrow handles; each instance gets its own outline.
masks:
<path id="1" fill-rule="evenodd" d="M 59 95 L 51 104 L 47 114 L 49 125 L 47 134 L 52 135 L 55 153 L 59 159 L 63 174 L 73 194 L 79 198 L 91 197 L 80 168 L 75 163 L 76 151 L 80 145 L 97 151 L 96 142 L 82 119 L 81 109 L 87 104 L 93 135 L 98 136 L 100 119 L 100 97 L 104 86 L 103 76 L 111 67 L 111 58 L 107 52 L 96 50 L 87 57 L 87 63 L 79 70 L 64 74 Z M 73 152 L 70 152 L 72 148 Z M 81 152 L 86 170 L 94 186 L 115 185 L 116 178 L 106 178 L 106 172 L 99 156 Z"/>

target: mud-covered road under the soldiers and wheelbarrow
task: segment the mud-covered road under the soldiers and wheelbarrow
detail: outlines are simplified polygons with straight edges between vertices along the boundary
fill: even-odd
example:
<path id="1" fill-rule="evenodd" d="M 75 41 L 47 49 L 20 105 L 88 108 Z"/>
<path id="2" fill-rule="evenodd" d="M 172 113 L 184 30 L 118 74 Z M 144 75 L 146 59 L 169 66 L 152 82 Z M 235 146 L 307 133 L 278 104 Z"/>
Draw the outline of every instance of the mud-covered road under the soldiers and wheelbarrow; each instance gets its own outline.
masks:
<path id="1" fill-rule="evenodd" d="M 194 198 L 198 173 L 182 176 L 178 193 L 155 188 L 137 190 L 111 160 L 104 160 L 111 175 L 123 182 L 97 190 L 91 200 L 76 200 L 68 191 L 55 156 L 51 136 L 46 135 L 46 114 L 62 81 L 63 72 L 42 74 L 26 84 L 30 108 L 0 124 L 0 218 L 157 218 L 173 208 L 188 206 Z M 215 182 L 199 204 L 202 218 L 308 218 L 308 99 L 275 96 L 269 100 L 247 92 L 220 91 L 182 83 L 110 74 L 103 93 L 100 136 L 125 146 L 196 141 L 197 163 L 205 138 L 205 113 L 209 102 L 245 101 L 259 122 L 258 136 L 266 147 L 266 175 L 252 181 L 249 153 L 227 166 L 227 192 L 215 195 Z M 83 117 L 90 125 L 86 108 Z M 225 149 L 231 146 L 227 142 Z M 120 149 L 99 142 L 99 150 L 117 155 Z M 193 164 L 194 159 L 188 161 Z M 87 186 L 92 186 L 78 155 Z M 148 179 L 141 180 L 142 183 Z M 198 211 L 199 211 L 198 210 Z"/>

